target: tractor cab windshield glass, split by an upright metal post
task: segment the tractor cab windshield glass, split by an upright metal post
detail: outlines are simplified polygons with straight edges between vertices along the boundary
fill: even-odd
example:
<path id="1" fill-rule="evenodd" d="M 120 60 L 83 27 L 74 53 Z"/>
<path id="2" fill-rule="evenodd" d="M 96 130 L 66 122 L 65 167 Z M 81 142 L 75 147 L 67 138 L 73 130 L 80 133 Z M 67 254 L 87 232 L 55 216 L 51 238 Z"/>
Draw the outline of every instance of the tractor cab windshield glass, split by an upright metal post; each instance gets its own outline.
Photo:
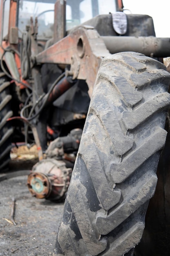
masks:
<path id="1" fill-rule="evenodd" d="M 30 25 L 30 18 L 38 18 L 38 39 L 48 40 L 53 36 L 54 5 L 56 0 L 20 0 L 18 27 L 20 33 Z M 71 29 L 99 14 L 116 11 L 114 0 L 67 0 L 66 30 Z"/>

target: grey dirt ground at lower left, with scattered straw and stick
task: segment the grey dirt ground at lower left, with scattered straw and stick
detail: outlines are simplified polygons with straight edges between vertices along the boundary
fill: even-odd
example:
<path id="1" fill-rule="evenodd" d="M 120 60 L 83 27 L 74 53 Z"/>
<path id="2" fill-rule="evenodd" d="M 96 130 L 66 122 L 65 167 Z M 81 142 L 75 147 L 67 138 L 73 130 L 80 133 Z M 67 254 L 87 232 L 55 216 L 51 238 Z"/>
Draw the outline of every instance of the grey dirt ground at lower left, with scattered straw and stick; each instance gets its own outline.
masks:
<path id="1" fill-rule="evenodd" d="M 15 156 L 12 161 L 11 170 L 25 170 L 31 168 L 37 158 L 25 157 L 21 161 Z M 0 181 L 0 256 L 53 254 L 64 203 L 32 197 L 26 180 L 27 175 L 23 175 Z M 16 200 L 16 225 L 11 224 L 12 198 Z"/>

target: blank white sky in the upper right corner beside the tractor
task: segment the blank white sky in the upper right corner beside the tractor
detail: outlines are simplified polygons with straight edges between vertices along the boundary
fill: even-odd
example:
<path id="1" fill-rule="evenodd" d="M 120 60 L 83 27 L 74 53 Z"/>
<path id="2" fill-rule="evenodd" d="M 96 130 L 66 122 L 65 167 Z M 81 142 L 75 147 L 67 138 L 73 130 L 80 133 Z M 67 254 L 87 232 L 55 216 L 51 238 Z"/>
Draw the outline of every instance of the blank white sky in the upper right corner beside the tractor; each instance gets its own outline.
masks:
<path id="1" fill-rule="evenodd" d="M 157 37 L 170 37 L 170 0 L 123 0 L 123 4 L 133 14 L 151 16 Z"/>

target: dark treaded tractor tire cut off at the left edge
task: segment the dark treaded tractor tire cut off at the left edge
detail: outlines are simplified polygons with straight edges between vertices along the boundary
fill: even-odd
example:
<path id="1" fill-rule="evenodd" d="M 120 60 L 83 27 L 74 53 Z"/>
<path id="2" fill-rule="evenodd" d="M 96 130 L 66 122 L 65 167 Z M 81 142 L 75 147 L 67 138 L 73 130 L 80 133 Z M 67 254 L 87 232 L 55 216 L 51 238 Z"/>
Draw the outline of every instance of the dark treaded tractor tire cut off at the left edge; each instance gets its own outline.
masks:
<path id="1" fill-rule="evenodd" d="M 9 93 L 10 82 L 4 73 L 0 72 L 0 171 L 8 169 L 11 150 L 11 135 L 13 128 L 7 121 L 13 115 L 11 110 L 12 96 Z"/>

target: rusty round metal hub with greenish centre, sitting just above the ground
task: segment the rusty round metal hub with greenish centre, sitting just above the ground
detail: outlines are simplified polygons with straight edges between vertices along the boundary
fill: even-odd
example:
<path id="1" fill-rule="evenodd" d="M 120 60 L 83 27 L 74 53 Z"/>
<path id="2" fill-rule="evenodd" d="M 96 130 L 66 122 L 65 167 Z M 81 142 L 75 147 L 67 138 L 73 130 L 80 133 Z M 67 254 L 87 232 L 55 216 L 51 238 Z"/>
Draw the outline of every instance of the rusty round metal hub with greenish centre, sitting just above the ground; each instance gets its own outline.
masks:
<path id="1" fill-rule="evenodd" d="M 29 191 L 36 198 L 59 200 L 67 191 L 72 169 L 61 160 L 43 159 L 33 166 L 27 179 Z"/>

